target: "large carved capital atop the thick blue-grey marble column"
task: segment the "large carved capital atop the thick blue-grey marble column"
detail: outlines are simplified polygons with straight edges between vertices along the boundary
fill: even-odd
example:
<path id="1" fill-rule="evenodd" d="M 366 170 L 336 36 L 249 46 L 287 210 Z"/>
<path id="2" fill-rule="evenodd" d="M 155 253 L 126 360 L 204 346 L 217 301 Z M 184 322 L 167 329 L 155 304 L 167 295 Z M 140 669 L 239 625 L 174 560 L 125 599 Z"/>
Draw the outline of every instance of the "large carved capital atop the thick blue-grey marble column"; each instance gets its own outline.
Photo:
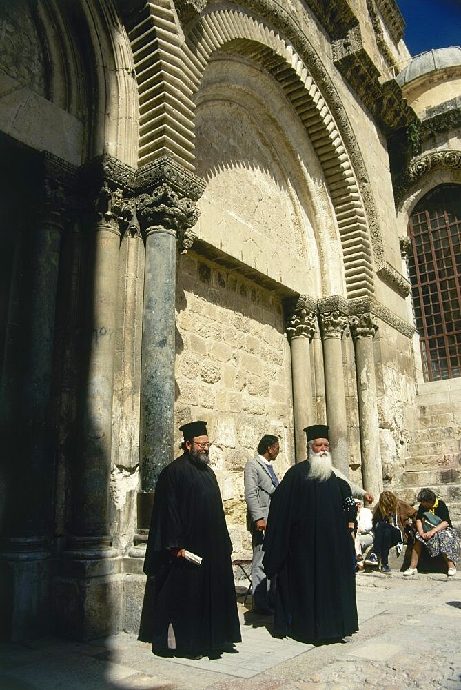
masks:
<path id="1" fill-rule="evenodd" d="M 205 182 L 172 159 L 163 156 L 140 168 L 136 174 L 136 211 L 145 235 L 174 233 L 179 250 L 186 253 L 194 242 L 191 228 L 196 224 Z"/>

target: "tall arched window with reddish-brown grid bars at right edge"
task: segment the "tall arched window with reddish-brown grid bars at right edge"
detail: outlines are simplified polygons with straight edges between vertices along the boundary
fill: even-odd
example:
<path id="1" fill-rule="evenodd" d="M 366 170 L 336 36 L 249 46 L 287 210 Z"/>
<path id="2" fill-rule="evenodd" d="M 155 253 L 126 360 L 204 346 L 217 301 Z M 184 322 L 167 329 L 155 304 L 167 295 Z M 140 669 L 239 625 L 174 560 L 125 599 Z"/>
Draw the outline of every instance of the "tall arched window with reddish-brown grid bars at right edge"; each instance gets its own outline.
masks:
<path id="1" fill-rule="evenodd" d="M 424 381 L 461 376 L 461 186 L 441 185 L 425 195 L 408 233 Z"/>

